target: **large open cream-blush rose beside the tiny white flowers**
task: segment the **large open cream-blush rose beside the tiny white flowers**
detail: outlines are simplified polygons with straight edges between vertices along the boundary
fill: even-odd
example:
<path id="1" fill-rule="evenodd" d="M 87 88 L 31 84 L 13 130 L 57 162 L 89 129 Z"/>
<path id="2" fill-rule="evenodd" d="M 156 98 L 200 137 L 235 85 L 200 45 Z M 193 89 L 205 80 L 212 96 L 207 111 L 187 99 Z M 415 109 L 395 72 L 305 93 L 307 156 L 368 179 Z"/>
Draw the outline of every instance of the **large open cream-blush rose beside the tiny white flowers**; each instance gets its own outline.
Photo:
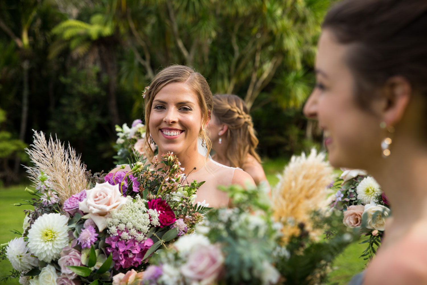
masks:
<path id="1" fill-rule="evenodd" d="M 108 182 L 95 185 L 86 190 L 86 198 L 79 202 L 79 210 L 89 213 L 99 232 L 107 226 L 107 218 L 111 217 L 112 209 L 120 209 L 127 201 L 119 190 L 119 184 L 110 185 Z"/>

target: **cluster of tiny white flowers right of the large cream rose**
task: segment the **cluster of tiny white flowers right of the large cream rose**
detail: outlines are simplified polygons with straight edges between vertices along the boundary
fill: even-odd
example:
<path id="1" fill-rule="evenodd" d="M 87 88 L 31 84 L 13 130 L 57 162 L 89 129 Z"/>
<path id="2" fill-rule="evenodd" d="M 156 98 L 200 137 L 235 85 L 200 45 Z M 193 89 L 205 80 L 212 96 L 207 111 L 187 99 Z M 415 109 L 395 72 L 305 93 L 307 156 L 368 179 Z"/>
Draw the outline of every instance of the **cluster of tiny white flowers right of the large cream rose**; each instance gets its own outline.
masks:
<path id="1" fill-rule="evenodd" d="M 146 200 L 140 197 L 128 199 L 121 209 L 111 211 L 111 217 L 107 218 L 108 233 L 116 236 L 120 230 L 122 240 L 135 238 L 144 241 L 151 226 L 159 225 L 158 212 L 147 209 Z"/>

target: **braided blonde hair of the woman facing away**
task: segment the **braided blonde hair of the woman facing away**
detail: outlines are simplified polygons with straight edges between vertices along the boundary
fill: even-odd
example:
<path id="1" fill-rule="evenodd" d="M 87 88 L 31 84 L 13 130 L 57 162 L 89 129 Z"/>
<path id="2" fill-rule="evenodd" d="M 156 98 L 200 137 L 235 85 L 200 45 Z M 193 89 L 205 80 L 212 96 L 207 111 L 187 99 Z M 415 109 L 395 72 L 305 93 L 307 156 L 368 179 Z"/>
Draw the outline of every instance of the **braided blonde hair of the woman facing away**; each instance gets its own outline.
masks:
<path id="1" fill-rule="evenodd" d="M 213 114 L 220 123 L 228 126 L 225 149 L 231 166 L 243 167 L 248 153 L 261 162 L 255 151 L 258 139 L 245 102 L 236 95 L 217 94 L 213 97 Z"/>

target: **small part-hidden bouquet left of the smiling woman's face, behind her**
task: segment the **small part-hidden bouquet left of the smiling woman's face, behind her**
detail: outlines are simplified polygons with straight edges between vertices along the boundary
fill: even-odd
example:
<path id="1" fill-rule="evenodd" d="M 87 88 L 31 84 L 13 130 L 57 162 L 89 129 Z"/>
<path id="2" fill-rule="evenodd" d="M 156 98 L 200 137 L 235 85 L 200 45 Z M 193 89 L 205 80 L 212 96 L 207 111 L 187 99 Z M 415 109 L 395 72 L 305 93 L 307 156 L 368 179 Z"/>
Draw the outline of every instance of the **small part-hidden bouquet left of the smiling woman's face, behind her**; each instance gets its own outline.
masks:
<path id="1" fill-rule="evenodd" d="M 145 129 L 140 119 L 134 120 L 130 128 L 127 123 L 124 123 L 122 126 L 116 125 L 118 138 L 114 148 L 117 150 L 117 155 L 113 156 L 113 158 L 117 159 L 117 165 L 128 163 L 134 150 L 144 156 Z M 156 149 L 154 144 L 151 147 L 153 151 Z"/>

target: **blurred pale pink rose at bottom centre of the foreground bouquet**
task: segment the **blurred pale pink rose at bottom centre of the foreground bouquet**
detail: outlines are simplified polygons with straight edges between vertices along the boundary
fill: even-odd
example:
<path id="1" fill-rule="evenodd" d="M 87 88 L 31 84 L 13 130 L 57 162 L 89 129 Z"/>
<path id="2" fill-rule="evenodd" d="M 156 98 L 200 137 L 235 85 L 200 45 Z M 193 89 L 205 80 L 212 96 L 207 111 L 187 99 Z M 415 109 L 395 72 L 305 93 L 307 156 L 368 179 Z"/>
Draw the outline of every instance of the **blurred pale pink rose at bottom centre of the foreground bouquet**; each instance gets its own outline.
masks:
<path id="1" fill-rule="evenodd" d="M 181 267 L 181 273 L 202 284 L 212 284 L 222 273 L 224 256 L 219 247 L 209 244 L 193 251 L 187 263 Z"/>

